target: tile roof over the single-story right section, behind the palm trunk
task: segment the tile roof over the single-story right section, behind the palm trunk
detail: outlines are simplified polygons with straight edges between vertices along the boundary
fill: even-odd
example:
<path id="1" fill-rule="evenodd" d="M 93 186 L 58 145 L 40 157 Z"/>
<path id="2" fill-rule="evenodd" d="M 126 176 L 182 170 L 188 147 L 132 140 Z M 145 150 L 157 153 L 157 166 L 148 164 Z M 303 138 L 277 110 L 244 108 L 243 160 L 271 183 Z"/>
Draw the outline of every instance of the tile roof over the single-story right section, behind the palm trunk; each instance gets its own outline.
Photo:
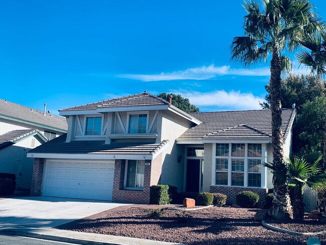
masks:
<path id="1" fill-rule="evenodd" d="M 219 111 L 190 113 L 202 121 L 190 128 L 178 140 L 212 138 L 271 138 L 271 110 Z M 282 110 L 282 129 L 287 137 L 295 117 L 295 109 Z"/>

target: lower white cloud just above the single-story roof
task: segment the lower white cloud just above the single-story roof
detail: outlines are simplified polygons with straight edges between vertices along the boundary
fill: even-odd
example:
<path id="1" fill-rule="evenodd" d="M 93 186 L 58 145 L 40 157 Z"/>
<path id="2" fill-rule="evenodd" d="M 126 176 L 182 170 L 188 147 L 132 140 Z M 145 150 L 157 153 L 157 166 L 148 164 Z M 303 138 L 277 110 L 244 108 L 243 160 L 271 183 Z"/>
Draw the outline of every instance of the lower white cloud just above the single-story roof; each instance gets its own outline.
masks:
<path id="1" fill-rule="evenodd" d="M 259 102 L 265 101 L 262 97 L 254 96 L 252 93 L 241 93 L 240 91 L 216 90 L 212 92 L 178 92 L 183 97 L 189 98 L 192 104 L 200 109 L 210 107 L 209 110 L 253 110 L 261 109 Z M 202 109 L 203 111 L 203 109 Z"/>

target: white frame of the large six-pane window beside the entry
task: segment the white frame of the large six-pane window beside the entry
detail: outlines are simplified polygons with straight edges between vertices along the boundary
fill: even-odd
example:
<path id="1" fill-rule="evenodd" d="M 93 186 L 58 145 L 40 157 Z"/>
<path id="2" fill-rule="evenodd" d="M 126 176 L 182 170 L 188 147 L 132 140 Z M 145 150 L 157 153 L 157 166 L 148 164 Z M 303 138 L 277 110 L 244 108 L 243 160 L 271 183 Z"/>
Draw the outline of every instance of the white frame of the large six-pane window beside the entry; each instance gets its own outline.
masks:
<path id="1" fill-rule="evenodd" d="M 228 157 L 221 157 L 216 156 L 216 144 L 229 144 L 229 156 Z M 232 144 L 244 144 L 245 145 L 245 156 L 244 157 L 232 157 Z M 249 157 L 248 158 L 248 144 L 261 144 L 261 158 L 256 157 Z M 261 165 L 261 186 L 248 186 L 248 159 L 260 159 L 261 162 L 267 162 L 266 158 L 266 144 L 265 143 L 256 143 L 256 142 L 250 142 L 250 143 L 244 143 L 244 142 L 217 142 L 213 143 L 212 147 L 212 185 L 214 186 L 229 186 L 229 187 L 242 187 L 242 188 L 267 188 L 267 168 Z M 228 185 L 217 185 L 216 184 L 216 159 L 228 159 Z M 244 159 L 244 183 L 243 186 L 234 186 L 232 185 L 232 159 Z"/>

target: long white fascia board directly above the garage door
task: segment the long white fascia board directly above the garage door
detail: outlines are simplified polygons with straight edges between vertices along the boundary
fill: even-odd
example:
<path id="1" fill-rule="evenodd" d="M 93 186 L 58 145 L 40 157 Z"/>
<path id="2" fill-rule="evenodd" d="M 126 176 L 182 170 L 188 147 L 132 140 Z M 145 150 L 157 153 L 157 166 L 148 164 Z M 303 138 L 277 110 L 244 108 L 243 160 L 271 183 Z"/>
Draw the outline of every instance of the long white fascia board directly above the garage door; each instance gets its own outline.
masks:
<path id="1" fill-rule="evenodd" d="M 126 160 L 152 160 L 152 154 L 59 154 L 59 153 L 27 153 L 30 158 L 54 159 L 126 159 Z"/>

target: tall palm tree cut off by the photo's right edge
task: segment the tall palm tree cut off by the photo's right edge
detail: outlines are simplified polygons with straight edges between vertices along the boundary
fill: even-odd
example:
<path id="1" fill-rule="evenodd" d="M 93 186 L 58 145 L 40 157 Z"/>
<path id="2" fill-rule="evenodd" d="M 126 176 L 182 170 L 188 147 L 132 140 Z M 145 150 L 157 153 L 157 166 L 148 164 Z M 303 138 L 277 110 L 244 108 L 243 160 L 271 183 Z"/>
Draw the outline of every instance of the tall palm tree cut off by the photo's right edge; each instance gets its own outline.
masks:
<path id="1" fill-rule="evenodd" d="M 320 78 L 326 75 L 326 31 L 315 32 L 300 39 L 300 44 L 305 48 L 301 50 L 296 58 L 300 64 L 311 68 L 311 73 Z M 326 111 L 326 108 L 325 108 Z M 326 171 L 326 120 L 323 130 L 323 170 Z M 326 215 L 326 191 L 318 194 L 319 212 Z"/>

